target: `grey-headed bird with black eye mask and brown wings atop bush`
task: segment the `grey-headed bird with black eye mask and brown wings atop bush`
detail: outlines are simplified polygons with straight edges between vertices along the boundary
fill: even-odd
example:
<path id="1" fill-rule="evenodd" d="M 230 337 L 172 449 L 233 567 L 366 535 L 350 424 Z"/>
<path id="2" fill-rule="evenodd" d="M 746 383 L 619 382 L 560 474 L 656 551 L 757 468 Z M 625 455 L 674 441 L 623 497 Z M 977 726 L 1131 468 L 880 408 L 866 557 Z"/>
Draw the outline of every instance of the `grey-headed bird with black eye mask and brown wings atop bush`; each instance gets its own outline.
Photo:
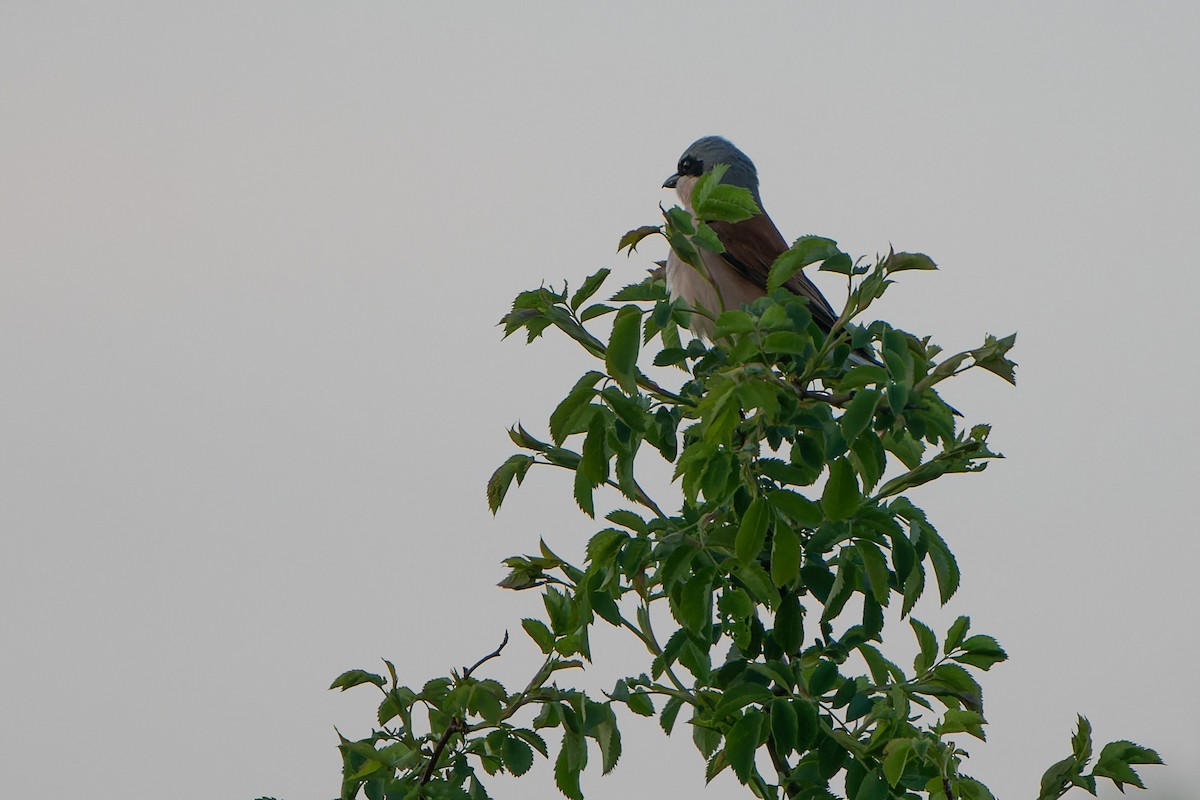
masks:
<path id="1" fill-rule="evenodd" d="M 706 136 L 692 142 L 679 156 L 674 174 L 662 181 L 662 188 L 673 188 L 684 209 L 695 216 L 691 193 L 696 181 L 718 164 L 728 166 L 721 182 L 749 190 L 758 209 L 762 210 L 758 170 L 755 169 L 754 162 L 732 142 L 719 136 Z M 722 311 L 740 308 L 767 294 L 770 265 L 787 249 L 787 241 L 764 210 L 742 222 L 713 221 L 708 225 L 725 246 L 724 253 L 700 251 L 712 283 L 674 251 L 667 255 L 665 272 L 672 299 L 683 299 L 691 308 L 703 308 L 715 317 Z M 720 295 L 714 290 L 713 283 L 716 284 Z M 828 333 L 838 320 L 838 314 L 804 272 L 793 275 L 784 287 L 808 300 L 814 321 Z M 713 327 L 709 317 L 691 314 L 691 330 L 697 336 L 712 339 Z"/>

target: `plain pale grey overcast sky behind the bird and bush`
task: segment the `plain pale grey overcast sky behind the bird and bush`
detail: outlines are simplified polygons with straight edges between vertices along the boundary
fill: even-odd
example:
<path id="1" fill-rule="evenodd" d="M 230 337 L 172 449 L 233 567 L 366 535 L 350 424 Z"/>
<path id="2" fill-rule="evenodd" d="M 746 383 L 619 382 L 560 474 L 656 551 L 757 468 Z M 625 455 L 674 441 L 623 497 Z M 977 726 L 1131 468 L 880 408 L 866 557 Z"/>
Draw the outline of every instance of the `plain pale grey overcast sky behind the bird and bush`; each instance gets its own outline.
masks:
<path id="1" fill-rule="evenodd" d="M 491 588 L 594 525 L 557 476 L 484 483 L 584 368 L 500 342 L 656 222 L 683 148 L 758 164 L 788 236 L 930 253 L 877 307 L 947 347 L 1008 459 L 919 491 L 985 678 L 971 771 L 1036 794 L 1076 711 L 1195 796 L 1194 4 L 7 2 L 0 24 L 0 795 L 324 800 L 324 687 L 414 684 L 536 613 Z M 818 276 L 840 300 L 836 281 Z M 901 655 L 910 634 L 894 634 Z M 611 639 L 586 678 L 641 655 Z M 598 651 L 599 645 L 598 645 Z M 534 663 L 515 637 L 491 674 Z M 701 792 L 630 720 L 589 798 Z M 535 764 L 498 796 L 554 798 Z M 1103 796 L 1114 796 L 1108 792 Z"/>

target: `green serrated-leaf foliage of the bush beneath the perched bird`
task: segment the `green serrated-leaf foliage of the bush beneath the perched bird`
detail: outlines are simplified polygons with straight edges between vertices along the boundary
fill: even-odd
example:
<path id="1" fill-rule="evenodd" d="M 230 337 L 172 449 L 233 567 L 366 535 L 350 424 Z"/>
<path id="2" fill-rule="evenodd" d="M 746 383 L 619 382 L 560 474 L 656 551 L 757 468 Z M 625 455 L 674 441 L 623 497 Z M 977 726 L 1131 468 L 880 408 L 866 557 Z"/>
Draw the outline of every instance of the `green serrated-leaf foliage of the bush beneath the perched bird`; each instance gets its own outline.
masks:
<path id="1" fill-rule="evenodd" d="M 756 213 L 749 192 L 720 184 L 720 174 L 696 186 L 700 219 Z M 720 248 L 706 222 L 682 209 L 666 211 L 661 227 L 630 231 L 620 247 L 656 234 L 692 264 L 701 249 Z M 828 335 L 802 297 L 779 289 L 817 263 L 850 281 Z M 956 742 L 984 739 L 978 676 L 1006 660 L 1003 649 L 972 633 L 966 616 L 941 638 L 908 616 L 918 644 L 911 670 L 877 646 L 884 607 L 898 602 L 907 616 L 930 575 L 944 603 L 961 577 L 913 489 L 1000 457 L 988 426 L 960 427 L 938 384 L 974 367 L 1014 377 L 1012 336 L 946 356 L 928 337 L 856 321 L 894 273 L 931 269 L 919 253 L 852 261 L 836 242 L 804 236 L 772 269 L 773 294 L 721 313 L 710 344 L 686 339 L 688 309 L 653 277 L 590 306 L 606 269 L 574 293 L 518 295 L 506 336 L 524 330 L 532 342 L 554 327 L 594 361 L 544 438 L 509 432 L 521 452 L 488 482 L 491 510 L 534 467 L 571 471 L 589 517 L 625 507 L 605 515 L 611 527 L 588 540 L 581 564 L 545 543 L 505 560 L 500 585 L 538 589 L 546 610 L 521 622 L 545 661 L 520 691 L 474 675 L 499 650 L 420 691 L 401 685 L 390 663 L 388 678 L 338 676 L 335 688 L 370 684 L 383 694 L 373 733 L 341 741 L 342 796 L 484 800 L 488 776 L 524 775 L 536 754 L 577 800 L 589 760 L 607 772 L 620 758 L 623 706 L 656 716 L 668 734 L 686 721 L 707 777 L 728 769 L 760 798 L 826 800 L 845 787 L 853 800 L 989 800 L 960 771 L 966 753 Z M 601 318 L 607 335 L 588 327 Z M 852 360 L 865 350 L 878 363 Z M 638 366 L 652 362 L 660 373 Z M 672 465 L 679 495 L 670 504 L 638 485 L 638 457 Z M 652 624 L 655 604 L 670 616 L 654 614 Z M 602 697 L 557 682 L 590 661 L 596 624 L 628 631 L 647 651 Z M 1080 717 L 1072 756 L 1046 771 L 1039 800 L 1072 787 L 1094 793 L 1097 777 L 1140 787 L 1133 765 L 1159 763 L 1127 741 L 1103 747 L 1085 772 L 1091 759 Z"/>

